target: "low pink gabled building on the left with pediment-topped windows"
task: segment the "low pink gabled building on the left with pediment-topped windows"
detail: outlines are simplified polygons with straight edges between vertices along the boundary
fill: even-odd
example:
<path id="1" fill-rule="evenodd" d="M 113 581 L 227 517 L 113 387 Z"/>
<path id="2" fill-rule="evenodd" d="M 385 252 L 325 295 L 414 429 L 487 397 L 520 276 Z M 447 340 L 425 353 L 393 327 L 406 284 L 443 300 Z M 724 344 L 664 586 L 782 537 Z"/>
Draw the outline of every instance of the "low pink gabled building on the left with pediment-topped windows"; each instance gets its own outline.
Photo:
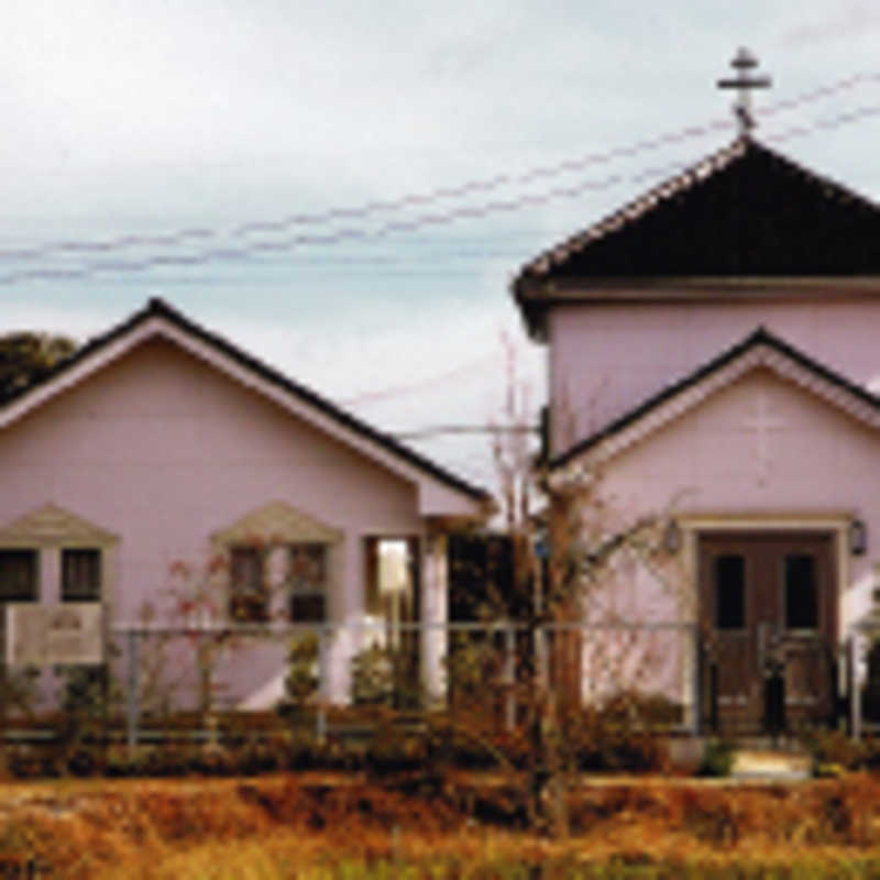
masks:
<path id="1" fill-rule="evenodd" d="M 157 299 L 0 405 L 2 598 L 98 603 L 108 636 L 147 606 L 177 625 L 443 622 L 446 536 L 490 508 Z M 403 560 L 399 583 L 382 582 L 383 548 Z M 334 700 L 371 632 L 330 638 Z M 444 644 L 421 641 L 435 690 Z M 230 651 L 221 701 L 272 706 L 285 648 Z"/>

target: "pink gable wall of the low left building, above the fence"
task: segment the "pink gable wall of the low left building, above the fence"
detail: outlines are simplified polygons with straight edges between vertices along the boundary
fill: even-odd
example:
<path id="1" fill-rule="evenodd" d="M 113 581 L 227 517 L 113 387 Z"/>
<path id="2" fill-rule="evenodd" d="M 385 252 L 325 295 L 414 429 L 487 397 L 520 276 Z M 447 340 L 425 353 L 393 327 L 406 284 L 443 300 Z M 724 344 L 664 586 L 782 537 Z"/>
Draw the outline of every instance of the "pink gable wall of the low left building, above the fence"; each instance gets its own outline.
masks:
<path id="1" fill-rule="evenodd" d="M 0 432 L 0 524 L 54 503 L 120 537 L 121 620 L 272 501 L 344 531 L 339 618 L 361 608 L 361 537 L 422 530 L 413 484 L 162 341 Z"/>

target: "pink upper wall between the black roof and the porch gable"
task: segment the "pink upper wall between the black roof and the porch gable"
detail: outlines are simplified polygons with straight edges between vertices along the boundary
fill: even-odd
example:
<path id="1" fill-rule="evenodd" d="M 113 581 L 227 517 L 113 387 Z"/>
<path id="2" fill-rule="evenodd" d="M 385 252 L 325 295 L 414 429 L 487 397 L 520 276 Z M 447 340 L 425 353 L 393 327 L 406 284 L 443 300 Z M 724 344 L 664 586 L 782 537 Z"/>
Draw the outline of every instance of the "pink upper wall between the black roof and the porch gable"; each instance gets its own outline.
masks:
<path id="1" fill-rule="evenodd" d="M 604 427 L 760 324 L 855 382 L 880 381 L 878 300 L 556 306 L 548 316 L 552 450 Z"/>

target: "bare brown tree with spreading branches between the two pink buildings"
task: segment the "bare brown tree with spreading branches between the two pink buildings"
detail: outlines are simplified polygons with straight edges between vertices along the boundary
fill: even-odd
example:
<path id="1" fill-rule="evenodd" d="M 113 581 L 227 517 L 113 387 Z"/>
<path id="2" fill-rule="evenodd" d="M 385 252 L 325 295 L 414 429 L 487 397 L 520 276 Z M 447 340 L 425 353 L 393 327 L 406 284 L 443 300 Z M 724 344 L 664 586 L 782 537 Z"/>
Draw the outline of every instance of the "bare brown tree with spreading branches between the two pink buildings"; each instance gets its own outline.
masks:
<path id="1" fill-rule="evenodd" d="M 455 723 L 474 738 L 502 743 L 493 754 L 512 771 L 519 765 L 529 823 L 561 836 L 568 832 L 566 791 L 585 713 L 595 718 L 612 707 L 618 721 L 638 723 L 639 694 L 669 647 L 648 628 L 622 626 L 634 609 L 617 607 L 615 598 L 622 585 L 631 592 L 639 580 L 651 579 L 675 604 L 683 581 L 663 541 L 669 512 L 627 516 L 605 497 L 601 468 L 562 477 L 536 454 L 529 388 L 518 377 L 514 345 L 503 343 L 507 388 L 493 453 L 513 546 L 508 588 L 527 601 L 507 596 L 497 616 L 512 604 L 527 612 L 517 622 L 513 663 L 509 641 L 499 648 L 483 640 L 479 650 L 460 652 L 453 684 L 457 675 L 466 679 L 470 663 L 479 685 Z M 497 735 L 499 713 L 487 691 L 514 695 L 515 729 L 506 738 Z M 509 727 L 509 713 L 505 721 Z"/>

